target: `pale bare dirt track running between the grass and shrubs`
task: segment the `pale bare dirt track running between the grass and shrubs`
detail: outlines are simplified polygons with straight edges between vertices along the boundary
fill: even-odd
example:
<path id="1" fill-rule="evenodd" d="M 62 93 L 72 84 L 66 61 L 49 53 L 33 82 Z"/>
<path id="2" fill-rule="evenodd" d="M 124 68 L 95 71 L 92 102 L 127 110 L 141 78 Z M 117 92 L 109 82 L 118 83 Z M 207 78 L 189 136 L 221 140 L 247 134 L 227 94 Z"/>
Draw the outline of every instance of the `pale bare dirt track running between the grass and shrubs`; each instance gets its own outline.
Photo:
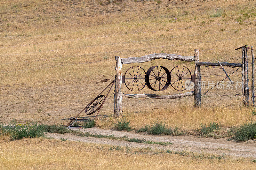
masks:
<path id="1" fill-rule="evenodd" d="M 82 132 L 88 132 L 92 134 L 101 135 L 115 135 L 115 137 L 129 137 L 129 138 L 139 138 L 146 139 L 154 142 L 171 142 L 172 145 L 158 145 L 158 144 L 144 144 L 144 143 L 134 143 L 106 138 L 96 138 L 96 137 L 79 137 L 71 134 L 56 134 L 47 133 L 47 137 L 53 137 L 55 139 L 68 138 L 70 141 L 81 141 L 87 143 L 96 144 L 110 144 L 110 145 L 121 145 L 129 147 L 140 147 L 152 149 L 170 149 L 172 151 L 191 151 L 191 152 L 206 152 L 212 154 L 224 154 L 232 157 L 251 157 L 256 158 L 256 142 L 248 141 L 243 143 L 236 143 L 233 141 L 227 141 L 227 138 L 213 139 L 213 138 L 198 138 L 195 136 L 153 136 L 145 133 L 135 133 L 135 132 L 125 132 L 116 130 L 105 130 L 99 128 L 88 128 L 88 129 L 77 129 Z"/>

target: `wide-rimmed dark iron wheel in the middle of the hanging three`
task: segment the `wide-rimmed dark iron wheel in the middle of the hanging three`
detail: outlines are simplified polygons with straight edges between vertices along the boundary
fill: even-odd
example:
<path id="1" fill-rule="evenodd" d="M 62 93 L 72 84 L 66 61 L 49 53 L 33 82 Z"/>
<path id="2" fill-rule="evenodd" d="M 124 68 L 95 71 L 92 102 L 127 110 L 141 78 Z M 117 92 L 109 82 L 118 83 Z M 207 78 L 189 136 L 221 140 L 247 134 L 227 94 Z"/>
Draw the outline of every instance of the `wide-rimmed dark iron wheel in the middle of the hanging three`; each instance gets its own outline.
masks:
<path id="1" fill-rule="evenodd" d="M 166 67 L 152 66 L 148 69 L 145 79 L 150 90 L 164 91 L 170 85 L 171 74 Z"/>

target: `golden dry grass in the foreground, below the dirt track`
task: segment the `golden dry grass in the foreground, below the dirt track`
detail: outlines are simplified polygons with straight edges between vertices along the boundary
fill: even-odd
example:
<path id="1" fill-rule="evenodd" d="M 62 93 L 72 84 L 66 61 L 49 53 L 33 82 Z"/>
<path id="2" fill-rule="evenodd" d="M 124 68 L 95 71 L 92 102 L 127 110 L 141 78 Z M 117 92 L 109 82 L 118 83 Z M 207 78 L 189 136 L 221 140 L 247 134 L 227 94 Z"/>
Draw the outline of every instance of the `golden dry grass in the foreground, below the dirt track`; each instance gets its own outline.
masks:
<path id="1" fill-rule="evenodd" d="M 1 169 L 255 169 L 251 159 L 207 159 L 150 149 L 109 150 L 109 145 L 34 138 L 0 139 Z M 157 154 L 158 152 L 158 154 Z"/>

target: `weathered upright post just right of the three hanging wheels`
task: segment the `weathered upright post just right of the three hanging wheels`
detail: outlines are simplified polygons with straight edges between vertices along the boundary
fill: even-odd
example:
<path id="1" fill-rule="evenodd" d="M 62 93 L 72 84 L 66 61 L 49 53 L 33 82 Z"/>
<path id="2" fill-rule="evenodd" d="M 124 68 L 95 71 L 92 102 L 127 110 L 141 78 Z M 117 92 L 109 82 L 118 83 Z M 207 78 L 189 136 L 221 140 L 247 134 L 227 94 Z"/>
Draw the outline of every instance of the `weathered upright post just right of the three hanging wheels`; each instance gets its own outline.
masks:
<path id="1" fill-rule="evenodd" d="M 194 84 L 194 107 L 201 107 L 201 68 L 196 65 L 199 62 L 199 51 L 195 49 L 195 84 Z"/>

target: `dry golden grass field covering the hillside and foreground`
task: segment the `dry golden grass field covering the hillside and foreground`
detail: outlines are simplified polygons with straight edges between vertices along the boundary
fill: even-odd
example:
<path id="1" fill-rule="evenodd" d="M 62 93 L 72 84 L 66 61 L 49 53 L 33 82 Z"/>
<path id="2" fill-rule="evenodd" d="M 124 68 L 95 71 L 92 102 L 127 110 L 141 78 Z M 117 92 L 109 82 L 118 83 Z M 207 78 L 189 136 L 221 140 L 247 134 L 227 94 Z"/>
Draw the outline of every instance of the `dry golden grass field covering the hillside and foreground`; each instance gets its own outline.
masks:
<path id="1" fill-rule="evenodd" d="M 241 50 L 235 48 L 256 44 L 255 5 L 254 0 L 3 0 L 0 3 L 0 123 L 14 118 L 18 123 L 67 124 L 68 118 L 79 113 L 114 79 L 115 55 L 124 58 L 164 52 L 194 56 L 194 49 L 198 48 L 201 62 L 241 63 Z M 251 62 L 250 50 L 248 62 Z M 153 65 L 169 70 L 183 65 L 191 73 L 195 69 L 193 62 L 158 59 L 123 65 L 122 74 L 134 65 L 146 71 Z M 228 74 L 236 70 L 225 69 Z M 232 81 L 241 82 L 241 69 L 234 74 L 230 76 Z M 249 77 L 250 74 L 249 64 Z M 202 93 L 209 89 L 208 81 L 216 84 L 226 77 L 219 67 L 201 67 L 201 76 L 206 83 Z M 109 81 L 98 83 L 103 79 Z M 193 108 L 193 96 L 170 100 L 123 98 L 123 113 L 135 129 L 156 120 L 188 131 L 212 121 L 221 122 L 225 128 L 255 121 L 255 116 L 249 114 L 251 107 L 242 106 L 242 90 L 226 87 L 206 93 L 201 108 Z M 134 93 L 124 84 L 122 92 Z M 145 87 L 139 93 L 180 92 L 169 86 L 163 92 L 152 92 Z M 113 109 L 112 89 L 96 121 L 97 127 L 113 127 L 118 120 L 112 116 Z M 150 168 L 148 162 L 166 169 L 253 168 L 248 160 L 198 160 L 167 153 L 134 155 L 110 152 L 103 145 L 43 138 L 1 140 L 0 147 L 7 148 L 0 149 L 1 169 L 27 169 L 34 164 L 52 169 L 74 166 L 83 169 L 89 165 L 89 169 L 142 169 Z M 26 152 L 34 156 L 25 161 L 21 153 L 28 147 L 31 149 Z M 88 152 L 81 154 L 80 150 Z M 49 157 L 54 157 L 50 163 L 45 159 Z M 95 159 L 100 159 L 101 164 L 89 162 Z M 13 161 L 16 163 L 11 166 L 9 163 Z M 62 163 L 65 164 L 60 166 Z"/>

